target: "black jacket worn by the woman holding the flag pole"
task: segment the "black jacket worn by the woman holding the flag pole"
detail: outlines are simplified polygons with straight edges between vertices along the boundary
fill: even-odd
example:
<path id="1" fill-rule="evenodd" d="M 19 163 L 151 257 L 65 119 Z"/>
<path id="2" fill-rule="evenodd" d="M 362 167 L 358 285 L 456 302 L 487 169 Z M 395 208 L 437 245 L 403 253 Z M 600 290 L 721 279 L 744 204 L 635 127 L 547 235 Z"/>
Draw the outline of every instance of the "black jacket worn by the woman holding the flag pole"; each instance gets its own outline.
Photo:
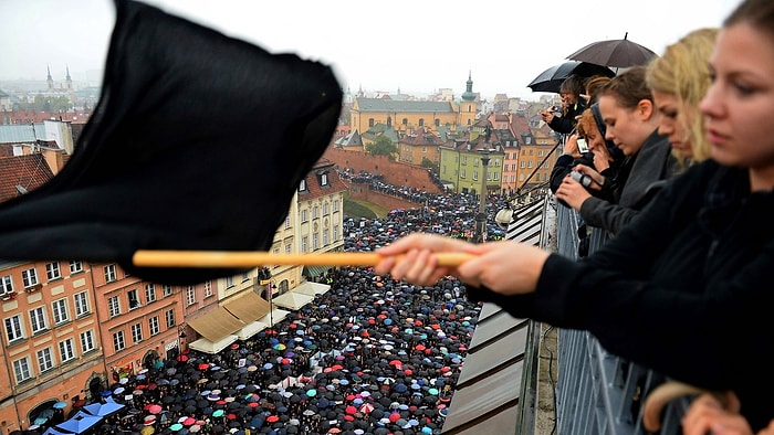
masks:
<path id="1" fill-rule="evenodd" d="M 733 390 L 757 431 L 774 418 L 774 192 L 750 193 L 747 177 L 713 161 L 691 167 L 599 251 L 579 262 L 552 254 L 534 294 L 474 295 L 588 330 L 677 380 Z"/>

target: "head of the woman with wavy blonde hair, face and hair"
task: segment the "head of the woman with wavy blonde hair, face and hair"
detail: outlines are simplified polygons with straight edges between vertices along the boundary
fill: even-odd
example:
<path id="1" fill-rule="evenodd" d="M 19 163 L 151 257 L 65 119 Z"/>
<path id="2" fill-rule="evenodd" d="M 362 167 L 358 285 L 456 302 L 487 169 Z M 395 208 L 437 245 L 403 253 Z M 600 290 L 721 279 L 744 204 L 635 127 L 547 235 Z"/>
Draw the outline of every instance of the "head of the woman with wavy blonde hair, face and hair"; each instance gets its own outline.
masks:
<path id="1" fill-rule="evenodd" d="M 710 87 L 707 66 L 718 29 L 698 29 L 667 46 L 663 55 L 648 65 L 646 79 L 661 113 L 659 132 L 669 136 L 672 149 L 687 163 L 710 157 L 704 117 L 699 102 Z"/>

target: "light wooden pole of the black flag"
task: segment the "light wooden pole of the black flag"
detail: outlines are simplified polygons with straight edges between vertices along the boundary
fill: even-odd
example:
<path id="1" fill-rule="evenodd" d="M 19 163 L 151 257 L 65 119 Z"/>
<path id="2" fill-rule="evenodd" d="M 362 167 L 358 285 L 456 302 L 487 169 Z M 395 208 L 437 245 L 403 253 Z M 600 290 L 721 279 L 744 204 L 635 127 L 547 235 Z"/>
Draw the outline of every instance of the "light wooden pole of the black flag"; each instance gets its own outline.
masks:
<path id="1" fill-rule="evenodd" d="M 458 266 L 473 254 L 437 253 L 439 266 Z M 322 254 L 273 254 L 254 251 L 150 251 L 135 252 L 132 262 L 138 267 L 258 267 L 265 265 L 299 266 L 375 266 L 381 255 L 373 252 L 335 252 Z"/>

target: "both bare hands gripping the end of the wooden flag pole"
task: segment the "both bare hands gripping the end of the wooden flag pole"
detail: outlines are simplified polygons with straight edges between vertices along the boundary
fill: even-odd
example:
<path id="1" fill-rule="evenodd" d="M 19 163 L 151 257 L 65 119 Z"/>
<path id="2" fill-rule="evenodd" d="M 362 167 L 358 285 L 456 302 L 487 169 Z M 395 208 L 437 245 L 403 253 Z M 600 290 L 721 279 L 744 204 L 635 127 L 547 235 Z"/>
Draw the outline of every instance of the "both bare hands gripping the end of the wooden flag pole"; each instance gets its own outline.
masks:
<path id="1" fill-rule="evenodd" d="M 472 258 L 453 267 L 438 266 L 433 254 L 463 252 Z M 503 295 L 535 290 L 548 253 L 510 241 L 472 244 L 437 234 L 411 234 L 376 251 L 383 259 L 374 270 L 394 279 L 431 285 L 454 275 L 473 287 L 485 286 Z"/>

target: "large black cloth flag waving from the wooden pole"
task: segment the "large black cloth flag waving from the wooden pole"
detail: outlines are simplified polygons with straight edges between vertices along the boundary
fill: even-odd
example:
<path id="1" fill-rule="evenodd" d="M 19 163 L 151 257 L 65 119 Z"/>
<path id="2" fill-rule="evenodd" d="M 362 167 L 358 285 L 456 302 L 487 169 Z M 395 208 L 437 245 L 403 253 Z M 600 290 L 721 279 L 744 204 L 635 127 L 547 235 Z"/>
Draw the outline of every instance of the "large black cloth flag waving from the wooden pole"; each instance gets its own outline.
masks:
<path id="1" fill-rule="evenodd" d="M 100 103 L 63 170 L 0 204 L 0 258 L 117 263 L 176 285 L 238 273 L 132 255 L 268 250 L 333 136 L 341 86 L 325 64 L 115 4 Z"/>

